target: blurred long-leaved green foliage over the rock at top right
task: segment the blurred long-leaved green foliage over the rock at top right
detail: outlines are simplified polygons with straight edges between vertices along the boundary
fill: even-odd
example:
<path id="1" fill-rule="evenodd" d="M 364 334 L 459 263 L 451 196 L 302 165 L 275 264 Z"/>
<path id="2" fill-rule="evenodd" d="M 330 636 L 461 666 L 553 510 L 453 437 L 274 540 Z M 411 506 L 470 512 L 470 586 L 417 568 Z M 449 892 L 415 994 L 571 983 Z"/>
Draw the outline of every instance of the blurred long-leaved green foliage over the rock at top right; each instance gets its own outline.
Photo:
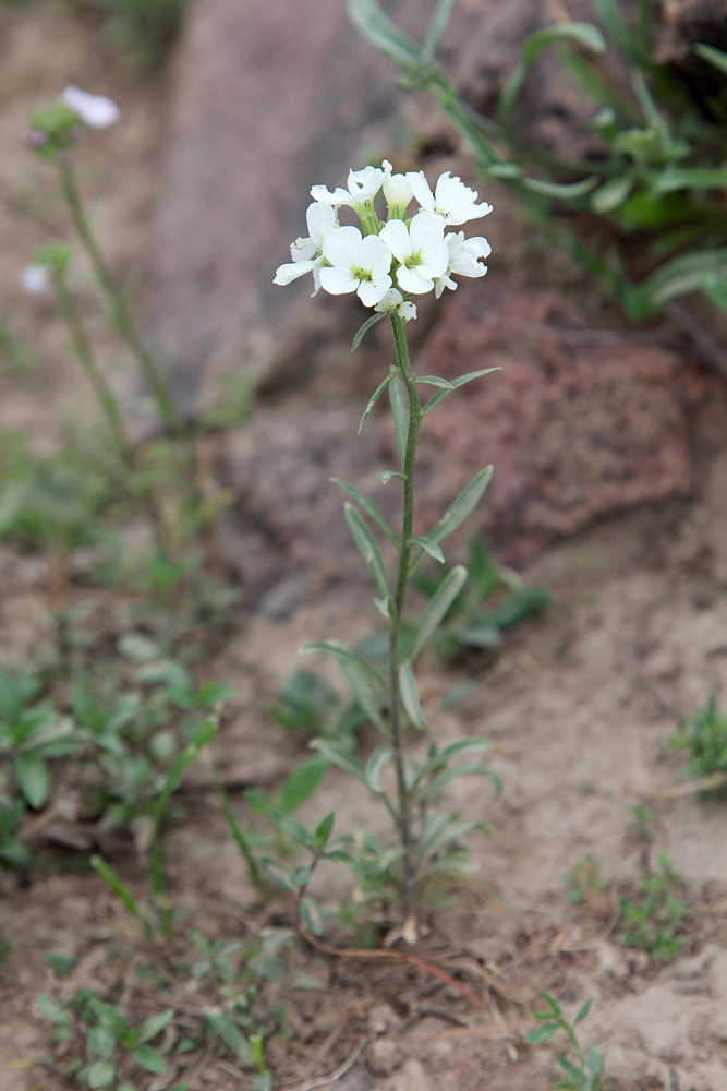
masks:
<path id="1" fill-rule="evenodd" d="M 616 252 L 611 267 L 607 264 L 599 275 L 629 317 L 643 321 L 700 290 L 723 307 L 724 292 L 714 284 L 715 277 L 724 281 L 727 268 L 727 53 L 694 46 L 701 74 L 711 69 L 715 89 L 693 89 L 676 69 L 657 62 L 649 5 L 641 5 L 639 22 L 630 26 L 618 0 L 596 0 L 599 26 L 558 23 L 525 40 L 498 115 L 490 118 L 471 109 L 432 59 L 432 41 L 438 40 L 451 7 L 440 9 L 436 34 L 420 46 L 376 0 L 348 0 L 354 25 L 402 70 L 404 85 L 435 98 L 470 143 L 485 178 L 513 188 L 544 218 L 565 213 L 568 224 L 560 237 L 566 240 L 572 241 L 575 223 L 577 249 L 592 274 L 604 263 L 594 227 L 607 225 Z M 619 63 L 629 71 L 626 82 L 618 67 L 609 67 L 606 46 L 620 53 Z M 599 146 L 582 160 L 553 156 L 518 132 L 520 93 L 546 48 L 556 50 L 593 103 L 591 130 Z M 616 278 L 614 265 L 621 269 Z"/>

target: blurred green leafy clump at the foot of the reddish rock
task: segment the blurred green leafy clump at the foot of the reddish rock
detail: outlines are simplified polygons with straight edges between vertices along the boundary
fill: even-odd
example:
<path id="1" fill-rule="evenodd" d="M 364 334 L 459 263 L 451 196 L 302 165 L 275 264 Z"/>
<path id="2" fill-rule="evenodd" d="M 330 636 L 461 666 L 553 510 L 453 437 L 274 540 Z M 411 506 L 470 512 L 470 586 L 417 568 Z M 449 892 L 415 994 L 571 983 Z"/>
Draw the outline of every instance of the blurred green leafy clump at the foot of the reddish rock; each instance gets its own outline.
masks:
<path id="1" fill-rule="evenodd" d="M 505 631 L 542 612 L 552 600 L 545 588 L 523 585 L 512 570 L 498 564 L 476 536 L 468 544 L 467 574 L 467 584 L 447 607 L 434 638 L 435 652 L 445 662 L 456 659 L 465 648 L 498 647 Z M 436 575 L 419 573 L 414 585 L 431 596 L 434 603 L 446 579 L 441 570 Z M 498 597 L 496 606 L 485 609 L 490 599 Z"/>

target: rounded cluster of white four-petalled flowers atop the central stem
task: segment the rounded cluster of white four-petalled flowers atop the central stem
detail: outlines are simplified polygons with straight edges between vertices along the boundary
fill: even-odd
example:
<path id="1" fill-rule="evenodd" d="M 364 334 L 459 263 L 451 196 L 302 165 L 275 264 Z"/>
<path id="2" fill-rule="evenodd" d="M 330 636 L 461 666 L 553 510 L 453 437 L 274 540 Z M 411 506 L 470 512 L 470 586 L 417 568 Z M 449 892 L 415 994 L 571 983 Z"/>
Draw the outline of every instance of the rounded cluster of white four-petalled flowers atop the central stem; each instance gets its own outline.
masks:
<path id="1" fill-rule="evenodd" d="M 311 190 L 313 204 L 306 220 L 308 238 L 296 239 L 290 248 L 293 259 L 277 271 L 274 284 L 290 284 L 305 273 L 313 274 L 314 291 L 323 288 L 334 296 L 355 291 L 362 303 L 375 311 L 398 314 L 405 321 L 416 317 L 416 307 L 408 298 L 445 288 L 457 288 L 452 276 L 484 276 L 483 260 L 490 253 L 486 239 L 467 239 L 463 231 L 445 233 L 492 212 L 492 205 L 476 204 L 477 193 L 447 170 L 434 193 L 423 171 L 391 173 L 391 164 L 352 170 L 348 189 L 331 193 L 325 185 Z M 387 219 L 378 218 L 374 206 L 384 190 Z M 420 211 L 411 218 L 412 201 Z M 341 227 L 338 209 L 352 208 L 361 220 L 358 227 Z"/>

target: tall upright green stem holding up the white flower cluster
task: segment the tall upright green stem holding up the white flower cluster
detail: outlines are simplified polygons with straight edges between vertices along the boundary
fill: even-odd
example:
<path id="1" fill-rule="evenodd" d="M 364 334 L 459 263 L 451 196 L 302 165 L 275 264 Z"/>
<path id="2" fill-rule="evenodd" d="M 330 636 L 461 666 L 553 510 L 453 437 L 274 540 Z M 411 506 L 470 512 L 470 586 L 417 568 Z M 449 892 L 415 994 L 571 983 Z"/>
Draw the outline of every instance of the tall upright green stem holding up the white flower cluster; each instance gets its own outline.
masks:
<path id="1" fill-rule="evenodd" d="M 409 913 L 411 911 L 414 862 L 412 859 L 413 843 L 411 830 L 410 792 L 407 787 L 402 743 L 403 709 L 401 703 L 401 690 L 399 685 L 399 640 L 401 637 L 401 624 L 403 621 L 407 588 L 409 586 L 409 563 L 414 526 L 414 464 L 416 459 L 416 441 L 419 439 L 419 430 L 424 413 L 422 411 L 422 404 L 419 397 L 416 380 L 414 379 L 411 364 L 409 362 L 409 348 L 407 346 L 404 323 L 403 320 L 397 314 L 391 315 L 391 328 L 393 331 L 393 344 L 397 350 L 399 373 L 403 380 L 404 386 L 407 387 L 407 394 L 409 397 L 409 431 L 407 434 L 407 447 L 403 464 L 404 483 L 401 548 L 399 550 L 397 585 L 393 599 L 392 618 L 389 627 L 389 685 L 391 692 L 391 708 L 389 715 L 391 748 L 393 751 L 393 764 L 397 776 L 399 831 L 401 835 L 401 847 L 403 850 L 404 907 L 407 913 Z"/>

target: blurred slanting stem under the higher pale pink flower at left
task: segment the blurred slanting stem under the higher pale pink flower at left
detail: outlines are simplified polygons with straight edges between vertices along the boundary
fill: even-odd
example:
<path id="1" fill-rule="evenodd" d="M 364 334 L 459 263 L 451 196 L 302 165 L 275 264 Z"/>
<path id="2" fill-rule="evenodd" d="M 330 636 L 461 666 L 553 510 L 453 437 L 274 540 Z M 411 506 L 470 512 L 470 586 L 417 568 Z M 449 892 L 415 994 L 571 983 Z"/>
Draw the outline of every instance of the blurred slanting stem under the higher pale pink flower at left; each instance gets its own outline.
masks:
<path id="1" fill-rule="evenodd" d="M 96 279 L 107 297 L 111 321 L 135 356 L 142 375 L 144 376 L 144 381 L 154 395 L 157 408 L 167 429 L 173 436 L 175 436 L 175 439 L 181 440 L 186 446 L 190 470 L 192 473 L 190 487 L 196 495 L 197 490 L 195 480 L 197 459 L 194 444 L 184 427 L 183 421 L 177 412 L 169 393 L 169 387 L 159 374 L 157 365 L 152 359 L 149 351 L 138 336 L 131 314 L 129 313 L 126 302 L 114 284 L 101 252 L 98 249 L 96 239 L 94 238 L 93 231 L 90 230 L 90 226 L 81 204 L 81 197 L 78 196 L 78 189 L 75 182 L 73 168 L 66 163 L 59 161 L 58 169 L 60 171 L 63 196 L 71 212 L 74 227 L 78 232 L 78 237 L 93 266 Z"/>

